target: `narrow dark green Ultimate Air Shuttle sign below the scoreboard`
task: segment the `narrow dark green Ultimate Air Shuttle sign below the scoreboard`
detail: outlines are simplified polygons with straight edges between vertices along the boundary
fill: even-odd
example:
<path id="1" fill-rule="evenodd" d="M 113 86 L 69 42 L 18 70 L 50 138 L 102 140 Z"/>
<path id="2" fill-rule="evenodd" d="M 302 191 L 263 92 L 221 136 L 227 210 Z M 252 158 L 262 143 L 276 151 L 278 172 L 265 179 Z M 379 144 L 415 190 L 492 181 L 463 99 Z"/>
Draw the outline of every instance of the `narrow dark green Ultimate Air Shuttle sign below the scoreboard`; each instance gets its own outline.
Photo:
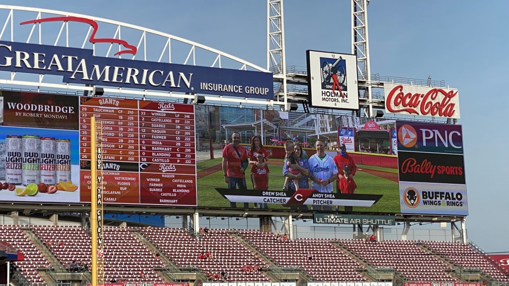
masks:
<path id="1" fill-rule="evenodd" d="M 378 224 L 396 225 L 394 216 L 390 215 L 330 215 L 313 214 L 314 223 L 331 224 Z"/>

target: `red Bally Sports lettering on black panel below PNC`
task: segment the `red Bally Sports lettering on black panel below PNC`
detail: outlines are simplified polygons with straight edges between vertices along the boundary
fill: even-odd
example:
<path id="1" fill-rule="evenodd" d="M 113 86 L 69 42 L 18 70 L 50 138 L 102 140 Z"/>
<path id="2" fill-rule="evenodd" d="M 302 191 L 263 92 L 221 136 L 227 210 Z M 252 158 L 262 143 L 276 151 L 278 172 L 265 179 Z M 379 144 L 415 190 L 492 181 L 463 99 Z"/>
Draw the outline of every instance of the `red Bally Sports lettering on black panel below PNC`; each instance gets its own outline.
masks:
<path id="1" fill-rule="evenodd" d="M 407 158 L 400 166 L 400 172 L 402 174 L 428 174 L 430 179 L 437 175 L 463 175 L 463 167 L 459 166 L 445 166 L 435 165 L 433 162 L 427 159 L 417 163 L 415 158 Z"/>

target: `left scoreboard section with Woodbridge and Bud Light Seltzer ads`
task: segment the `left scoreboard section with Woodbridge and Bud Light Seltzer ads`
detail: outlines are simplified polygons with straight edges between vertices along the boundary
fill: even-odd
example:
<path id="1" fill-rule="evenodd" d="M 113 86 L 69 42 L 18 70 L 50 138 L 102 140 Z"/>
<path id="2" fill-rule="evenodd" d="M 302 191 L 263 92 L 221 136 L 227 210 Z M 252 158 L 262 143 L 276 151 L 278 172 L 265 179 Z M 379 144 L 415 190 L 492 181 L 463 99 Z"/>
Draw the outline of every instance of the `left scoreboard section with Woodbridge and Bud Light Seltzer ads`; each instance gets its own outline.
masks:
<path id="1" fill-rule="evenodd" d="M 2 201 L 79 203 L 79 97 L 10 91 L 2 96 Z"/>

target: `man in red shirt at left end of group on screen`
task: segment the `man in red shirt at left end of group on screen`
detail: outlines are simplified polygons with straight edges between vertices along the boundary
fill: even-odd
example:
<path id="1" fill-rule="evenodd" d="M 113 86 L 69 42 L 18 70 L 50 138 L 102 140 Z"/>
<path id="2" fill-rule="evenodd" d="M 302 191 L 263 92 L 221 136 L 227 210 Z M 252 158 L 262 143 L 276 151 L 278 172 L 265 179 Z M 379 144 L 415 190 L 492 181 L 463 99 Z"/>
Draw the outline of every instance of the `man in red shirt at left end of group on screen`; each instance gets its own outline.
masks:
<path id="1" fill-rule="evenodd" d="M 224 174 L 224 182 L 228 184 L 229 189 L 239 188 L 239 190 L 246 190 L 246 176 L 244 174 L 247 168 L 247 151 L 240 145 L 240 134 L 233 132 L 232 142 L 224 146 L 222 152 L 222 169 Z M 244 162 L 246 162 L 244 164 Z M 247 209 L 248 203 L 244 203 L 244 208 Z M 230 202 L 230 207 L 236 208 L 235 202 Z"/>

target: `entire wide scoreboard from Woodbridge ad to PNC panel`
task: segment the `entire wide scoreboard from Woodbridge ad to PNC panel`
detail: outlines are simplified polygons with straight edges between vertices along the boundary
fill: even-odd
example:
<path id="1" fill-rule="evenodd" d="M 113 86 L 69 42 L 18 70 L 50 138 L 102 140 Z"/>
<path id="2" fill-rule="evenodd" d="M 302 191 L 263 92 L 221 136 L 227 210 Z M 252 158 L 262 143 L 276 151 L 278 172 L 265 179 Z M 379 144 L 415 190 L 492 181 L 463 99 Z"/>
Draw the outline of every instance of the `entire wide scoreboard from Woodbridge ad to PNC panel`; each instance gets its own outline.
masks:
<path id="1" fill-rule="evenodd" d="M 354 144 L 355 129 L 329 116 L 322 120 L 338 130 L 346 154 L 328 150 L 317 160 L 316 148 L 291 147 L 298 157 L 291 163 L 282 159 L 285 146 L 256 147 L 262 141 L 254 120 L 259 109 L 11 91 L 1 96 L 8 115 L 0 126 L 4 202 L 89 203 L 90 138 L 100 134 L 105 204 L 468 213 L 461 126 L 394 121 L 392 129 L 366 133 Z M 280 117 L 264 110 L 263 118 Z M 289 112 L 278 130 L 265 130 L 264 141 L 271 144 L 275 136 L 285 145 L 285 138 L 298 136 L 315 146 L 306 135 L 315 132 L 313 120 Z M 387 155 L 394 134 L 397 157 Z M 291 170 L 295 164 L 317 179 Z M 337 174 L 348 180 L 329 180 Z"/>

